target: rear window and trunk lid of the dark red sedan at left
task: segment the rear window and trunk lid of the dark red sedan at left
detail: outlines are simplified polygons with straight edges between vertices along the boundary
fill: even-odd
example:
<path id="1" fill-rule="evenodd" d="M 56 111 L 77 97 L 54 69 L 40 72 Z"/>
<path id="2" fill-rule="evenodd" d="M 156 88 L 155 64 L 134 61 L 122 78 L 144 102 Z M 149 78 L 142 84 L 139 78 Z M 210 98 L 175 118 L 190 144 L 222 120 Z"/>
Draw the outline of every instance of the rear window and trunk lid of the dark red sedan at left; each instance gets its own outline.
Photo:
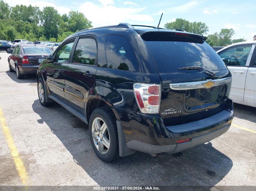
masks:
<path id="1" fill-rule="evenodd" d="M 24 55 L 28 57 L 30 65 L 39 65 L 49 54 L 52 54 L 48 47 L 23 46 L 22 48 Z"/>

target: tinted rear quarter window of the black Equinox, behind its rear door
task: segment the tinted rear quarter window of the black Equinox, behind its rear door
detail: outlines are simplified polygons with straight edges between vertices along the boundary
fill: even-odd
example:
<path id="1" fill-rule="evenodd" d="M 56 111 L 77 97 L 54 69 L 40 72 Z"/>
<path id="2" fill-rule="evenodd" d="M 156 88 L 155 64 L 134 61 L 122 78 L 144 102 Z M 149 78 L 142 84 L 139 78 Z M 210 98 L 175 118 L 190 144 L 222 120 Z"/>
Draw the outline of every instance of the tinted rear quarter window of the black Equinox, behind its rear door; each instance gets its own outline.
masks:
<path id="1" fill-rule="evenodd" d="M 138 71 L 137 60 L 127 38 L 120 35 L 105 35 L 105 50 L 108 68 Z"/>

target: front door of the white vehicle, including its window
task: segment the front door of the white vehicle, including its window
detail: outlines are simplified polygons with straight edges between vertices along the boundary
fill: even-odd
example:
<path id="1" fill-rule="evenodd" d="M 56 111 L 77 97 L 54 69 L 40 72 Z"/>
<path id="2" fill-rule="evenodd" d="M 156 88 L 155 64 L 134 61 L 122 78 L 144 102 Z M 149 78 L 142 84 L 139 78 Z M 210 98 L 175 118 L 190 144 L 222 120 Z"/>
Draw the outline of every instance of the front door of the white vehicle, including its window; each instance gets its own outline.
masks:
<path id="1" fill-rule="evenodd" d="M 232 74 L 230 98 L 235 101 L 244 101 L 244 87 L 248 66 L 254 50 L 252 44 L 237 45 L 218 53 Z M 250 56 L 249 56 L 250 55 Z M 250 57 L 248 59 L 248 57 Z"/>

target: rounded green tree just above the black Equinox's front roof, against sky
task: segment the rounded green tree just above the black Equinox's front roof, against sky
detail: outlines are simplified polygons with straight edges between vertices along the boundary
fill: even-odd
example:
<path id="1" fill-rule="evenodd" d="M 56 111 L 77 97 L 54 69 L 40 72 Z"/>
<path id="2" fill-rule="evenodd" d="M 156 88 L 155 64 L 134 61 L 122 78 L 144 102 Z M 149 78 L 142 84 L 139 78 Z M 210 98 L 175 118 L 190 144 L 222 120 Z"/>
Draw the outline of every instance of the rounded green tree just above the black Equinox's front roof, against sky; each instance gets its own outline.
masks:
<path id="1" fill-rule="evenodd" d="M 65 16 L 64 16 L 64 19 L 66 20 Z M 69 12 L 67 24 L 68 24 L 68 28 L 72 32 L 76 32 L 78 30 L 92 27 L 91 21 L 89 21 L 83 13 L 78 11 Z"/>

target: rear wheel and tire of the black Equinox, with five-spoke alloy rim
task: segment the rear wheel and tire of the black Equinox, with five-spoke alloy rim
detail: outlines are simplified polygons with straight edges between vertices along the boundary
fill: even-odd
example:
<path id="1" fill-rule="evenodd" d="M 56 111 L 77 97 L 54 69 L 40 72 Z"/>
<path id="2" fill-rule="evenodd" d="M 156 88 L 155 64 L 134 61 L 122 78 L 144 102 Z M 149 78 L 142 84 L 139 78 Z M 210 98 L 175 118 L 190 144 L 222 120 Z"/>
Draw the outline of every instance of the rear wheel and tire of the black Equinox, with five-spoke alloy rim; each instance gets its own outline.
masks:
<path id="1" fill-rule="evenodd" d="M 119 158 L 118 131 L 116 118 L 109 107 L 94 110 L 89 121 L 91 145 L 104 162 L 114 162 Z"/>

